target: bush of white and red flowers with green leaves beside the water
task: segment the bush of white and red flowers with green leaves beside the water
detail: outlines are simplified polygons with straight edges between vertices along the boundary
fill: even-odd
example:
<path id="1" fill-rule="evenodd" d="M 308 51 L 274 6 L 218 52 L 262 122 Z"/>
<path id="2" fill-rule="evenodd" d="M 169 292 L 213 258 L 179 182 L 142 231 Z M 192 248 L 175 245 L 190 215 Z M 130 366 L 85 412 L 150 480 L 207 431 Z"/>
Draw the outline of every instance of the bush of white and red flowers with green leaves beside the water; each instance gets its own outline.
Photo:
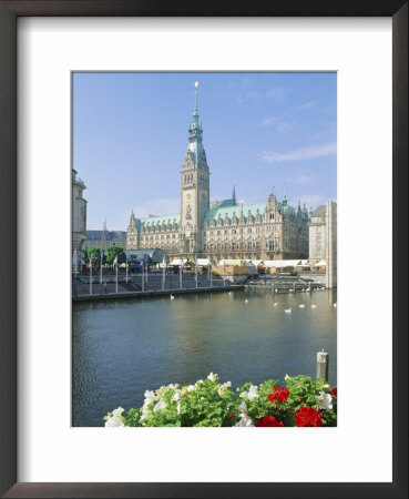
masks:
<path id="1" fill-rule="evenodd" d="M 162 386 L 145 391 L 140 409 L 117 409 L 105 427 L 325 427 L 337 426 L 337 387 L 309 376 L 286 376 L 259 386 L 221 384 L 211 373 L 194 385 Z"/>

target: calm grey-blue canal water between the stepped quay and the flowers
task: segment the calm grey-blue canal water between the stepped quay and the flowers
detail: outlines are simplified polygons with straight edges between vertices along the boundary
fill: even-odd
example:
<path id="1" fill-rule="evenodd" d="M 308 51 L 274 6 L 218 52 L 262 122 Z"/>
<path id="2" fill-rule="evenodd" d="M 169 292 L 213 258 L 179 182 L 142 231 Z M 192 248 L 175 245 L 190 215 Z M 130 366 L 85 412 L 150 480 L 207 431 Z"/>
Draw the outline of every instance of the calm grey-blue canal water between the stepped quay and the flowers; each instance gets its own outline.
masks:
<path id="1" fill-rule="evenodd" d="M 283 383 L 286 374 L 315 378 L 321 348 L 336 385 L 336 291 L 249 288 L 73 303 L 72 425 L 103 426 L 108 411 L 141 407 L 146 389 L 194 384 L 211 371 L 234 389 L 245 381 Z"/>

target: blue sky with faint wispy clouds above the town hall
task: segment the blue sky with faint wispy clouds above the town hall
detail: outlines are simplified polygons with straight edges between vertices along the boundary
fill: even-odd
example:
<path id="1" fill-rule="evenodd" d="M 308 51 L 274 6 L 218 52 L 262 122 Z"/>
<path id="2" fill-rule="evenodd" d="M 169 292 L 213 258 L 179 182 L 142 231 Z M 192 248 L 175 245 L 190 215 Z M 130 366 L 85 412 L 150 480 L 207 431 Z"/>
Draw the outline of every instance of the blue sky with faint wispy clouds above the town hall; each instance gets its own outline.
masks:
<path id="1" fill-rule="evenodd" d="M 336 73 L 74 73 L 73 167 L 88 230 L 180 211 L 198 82 L 211 200 L 337 201 Z"/>

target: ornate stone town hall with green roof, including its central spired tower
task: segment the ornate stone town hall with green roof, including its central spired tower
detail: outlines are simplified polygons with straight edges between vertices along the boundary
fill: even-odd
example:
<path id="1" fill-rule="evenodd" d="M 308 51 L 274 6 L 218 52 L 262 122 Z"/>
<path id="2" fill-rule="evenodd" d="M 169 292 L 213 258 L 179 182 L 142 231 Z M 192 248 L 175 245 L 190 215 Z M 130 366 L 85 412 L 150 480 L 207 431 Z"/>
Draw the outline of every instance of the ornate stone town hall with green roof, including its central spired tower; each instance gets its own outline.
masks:
<path id="1" fill-rule="evenodd" d="M 257 204 L 211 202 L 209 169 L 198 121 L 197 93 L 181 175 L 181 211 L 139 218 L 132 212 L 126 249 L 159 247 L 170 256 L 222 258 L 308 258 L 309 213 L 278 201 L 274 187 Z"/>

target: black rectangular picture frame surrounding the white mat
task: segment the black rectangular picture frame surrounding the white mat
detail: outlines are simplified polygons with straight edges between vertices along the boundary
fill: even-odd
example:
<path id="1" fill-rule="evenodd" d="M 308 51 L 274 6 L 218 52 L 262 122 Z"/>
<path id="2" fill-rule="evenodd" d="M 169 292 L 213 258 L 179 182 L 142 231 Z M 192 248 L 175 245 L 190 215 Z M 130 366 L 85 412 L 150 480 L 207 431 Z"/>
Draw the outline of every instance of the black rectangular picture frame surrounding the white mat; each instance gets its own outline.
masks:
<path id="1" fill-rule="evenodd" d="M 22 16 L 226 16 L 392 18 L 392 482 L 17 482 L 17 19 Z M 7 498 L 408 497 L 408 1 L 405 0 L 0 0 L 0 493 Z M 19 243 L 19 245 L 18 245 Z M 375 381 L 375 380 L 374 380 Z M 381 401 L 369 401 L 380 417 Z M 370 415 L 368 414 L 368 417 Z M 365 424 L 365 422 L 362 422 Z M 376 442 L 376 436 L 374 436 Z M 375 444 L 376 445 L 376 444 Z"/>

